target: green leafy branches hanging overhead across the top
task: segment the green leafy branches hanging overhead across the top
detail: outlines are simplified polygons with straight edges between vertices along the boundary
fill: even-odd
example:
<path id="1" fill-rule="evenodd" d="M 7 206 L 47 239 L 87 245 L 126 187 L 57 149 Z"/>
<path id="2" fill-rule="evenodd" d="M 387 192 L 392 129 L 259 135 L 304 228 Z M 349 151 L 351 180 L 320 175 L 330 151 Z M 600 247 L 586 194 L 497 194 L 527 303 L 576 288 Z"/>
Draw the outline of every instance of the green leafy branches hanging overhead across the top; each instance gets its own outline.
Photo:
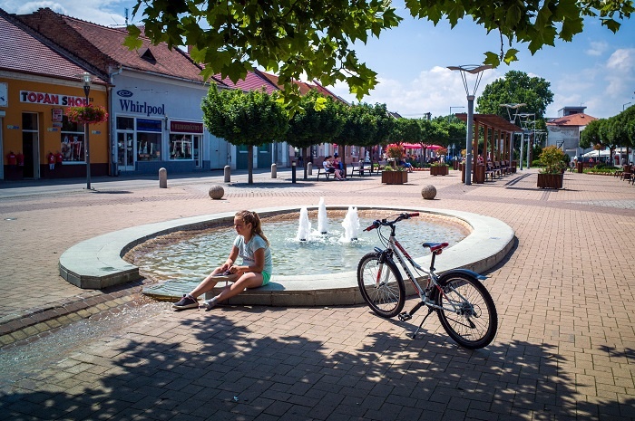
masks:
<path id="1" fill-rule="evenodd" d="M 556 39 L 571 41 L 582 32 L 583 17 L 615 33 L 635 10 L 632 0 L 405 0 L 405 7 L 434 24 L 447 20 L 454 27 L 471 18 L 500 33 L 501 52 L 485 53 L 484 62 L 493 65 L 515 61 L 519 43 L 536 53 Z M 344 81 L 361 100 L 375 87 L 376 72 L 357 60 L 352 43 L 366 43 L 402 20 L 389 0 L 137 0 L 132 13 L 153 43 L 190 45 L 204 76 L 220 73 L 236 82 L 264 68 L 278 73 L 296 102 L 293 81 L 303 74 L 325 86 Z M 140 48 L 140 28 L 129 25 L 128 32 L 126 45 Z"/>

